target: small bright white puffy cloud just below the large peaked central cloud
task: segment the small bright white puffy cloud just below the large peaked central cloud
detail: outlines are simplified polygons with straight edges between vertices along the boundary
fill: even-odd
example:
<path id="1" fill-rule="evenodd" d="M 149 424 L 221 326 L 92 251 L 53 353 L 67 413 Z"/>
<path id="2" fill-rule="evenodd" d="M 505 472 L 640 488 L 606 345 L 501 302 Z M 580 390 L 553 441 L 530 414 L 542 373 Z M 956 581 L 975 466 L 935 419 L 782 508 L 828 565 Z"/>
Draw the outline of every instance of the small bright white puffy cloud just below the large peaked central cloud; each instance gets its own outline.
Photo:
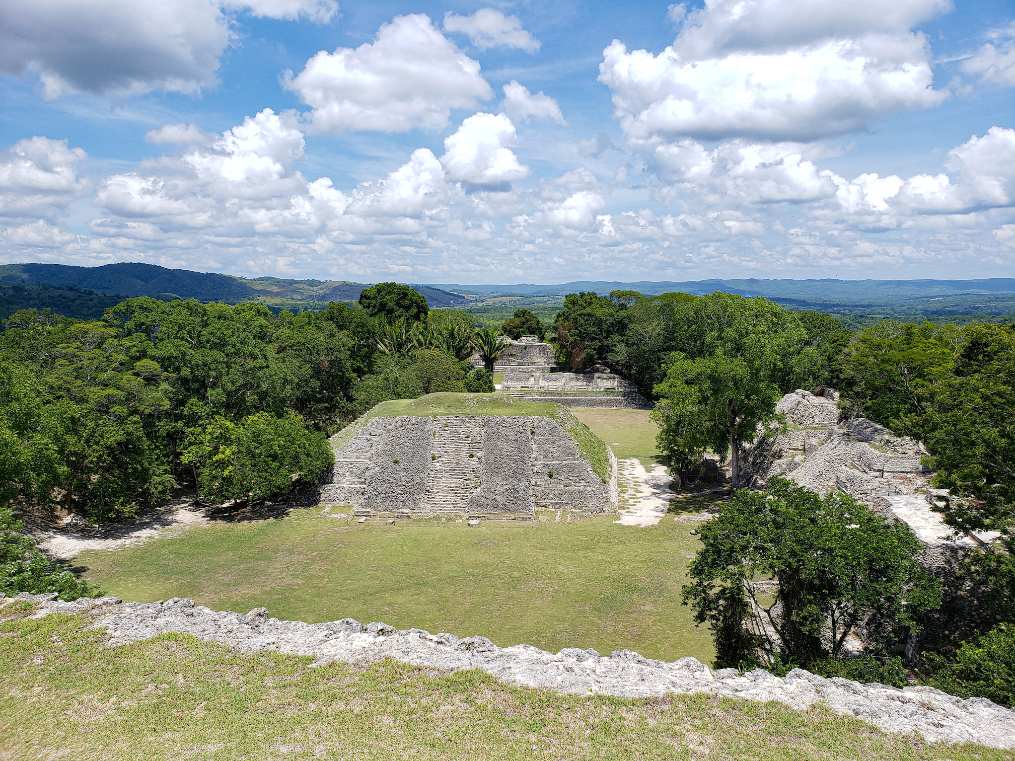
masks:
<path id="1" fill-rule="evenodd" d="M 511 150 L 516 140 L 515 125 L 506 116 L 476 114 L 445 138 L 441 163 L 452 181 L 506 189 L 510 183 L 529 177 L 529 167 Z"/>

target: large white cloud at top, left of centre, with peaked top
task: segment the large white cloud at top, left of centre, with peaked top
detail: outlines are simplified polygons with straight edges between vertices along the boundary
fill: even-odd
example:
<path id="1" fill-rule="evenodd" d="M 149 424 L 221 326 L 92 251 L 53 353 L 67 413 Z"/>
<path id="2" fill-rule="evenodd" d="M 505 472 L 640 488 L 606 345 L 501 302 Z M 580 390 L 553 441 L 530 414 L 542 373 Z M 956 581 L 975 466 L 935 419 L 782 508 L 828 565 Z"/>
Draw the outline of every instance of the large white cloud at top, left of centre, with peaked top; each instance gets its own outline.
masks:
<path id="1" fill-rule="evenodd" d="M 322 51 L 284 79 L 313 109 L 318 130 L 437 131 L 452 109 L 493 96 L 479 62 L 460 51 L 421 13 L 396 16 L 373 43 Z"/>

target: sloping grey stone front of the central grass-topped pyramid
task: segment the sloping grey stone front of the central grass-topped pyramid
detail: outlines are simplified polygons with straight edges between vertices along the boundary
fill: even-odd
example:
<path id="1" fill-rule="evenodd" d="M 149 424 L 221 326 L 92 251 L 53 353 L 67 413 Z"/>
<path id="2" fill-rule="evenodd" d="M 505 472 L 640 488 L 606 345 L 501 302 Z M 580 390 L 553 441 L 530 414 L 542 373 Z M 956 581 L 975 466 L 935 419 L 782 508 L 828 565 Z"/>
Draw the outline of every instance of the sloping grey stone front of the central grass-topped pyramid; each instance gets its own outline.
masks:
<path id="1" fill-rule="evenodd" d="M 344 433 L 334 440 L 321 503 L 356 514 L 532 520 L 537 508 L 616 511 L 616 461 L 612 473 L 595 473 L 548 417 L 376 417 Z"/>

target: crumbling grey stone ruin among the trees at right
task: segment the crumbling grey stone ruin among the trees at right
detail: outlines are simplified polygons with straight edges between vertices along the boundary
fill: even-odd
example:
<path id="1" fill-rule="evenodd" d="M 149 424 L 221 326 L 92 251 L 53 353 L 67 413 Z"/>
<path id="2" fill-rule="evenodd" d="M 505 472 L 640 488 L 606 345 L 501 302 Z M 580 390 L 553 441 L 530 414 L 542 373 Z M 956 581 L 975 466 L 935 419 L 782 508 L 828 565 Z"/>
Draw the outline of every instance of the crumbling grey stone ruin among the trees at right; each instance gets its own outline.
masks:
<path id="1" fill-rule="evenodd" d="M 997 535 L 954 537 L 940 502 L 946 493 L 931 486 L 930 469 L 921 463 L 924 444 L 896 436 L 866 418 L 838 421 L 838 395 L 797 390 L 780 400 L 789 430 L 760 436 L 747 452 L 745 472 L 751 486 L 775 477 L 796 481 L 819 494 L 851 494 L 886 518 L 909 527 L 927 549 L 927 564 L 946 567 L 965 550 Z"/>

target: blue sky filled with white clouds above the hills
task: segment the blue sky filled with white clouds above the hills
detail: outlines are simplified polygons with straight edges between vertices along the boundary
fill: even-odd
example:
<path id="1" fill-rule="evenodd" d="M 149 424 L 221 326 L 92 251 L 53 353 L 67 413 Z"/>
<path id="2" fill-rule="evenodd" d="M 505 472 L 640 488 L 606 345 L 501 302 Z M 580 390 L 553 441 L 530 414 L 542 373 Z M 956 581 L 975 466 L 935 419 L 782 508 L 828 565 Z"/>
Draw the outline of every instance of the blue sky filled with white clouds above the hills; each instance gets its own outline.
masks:
<path id="1" fill-rule="evenodd" d="M 13 5 L 0 261 L 1015 276 L 1008 2 Z"/>

